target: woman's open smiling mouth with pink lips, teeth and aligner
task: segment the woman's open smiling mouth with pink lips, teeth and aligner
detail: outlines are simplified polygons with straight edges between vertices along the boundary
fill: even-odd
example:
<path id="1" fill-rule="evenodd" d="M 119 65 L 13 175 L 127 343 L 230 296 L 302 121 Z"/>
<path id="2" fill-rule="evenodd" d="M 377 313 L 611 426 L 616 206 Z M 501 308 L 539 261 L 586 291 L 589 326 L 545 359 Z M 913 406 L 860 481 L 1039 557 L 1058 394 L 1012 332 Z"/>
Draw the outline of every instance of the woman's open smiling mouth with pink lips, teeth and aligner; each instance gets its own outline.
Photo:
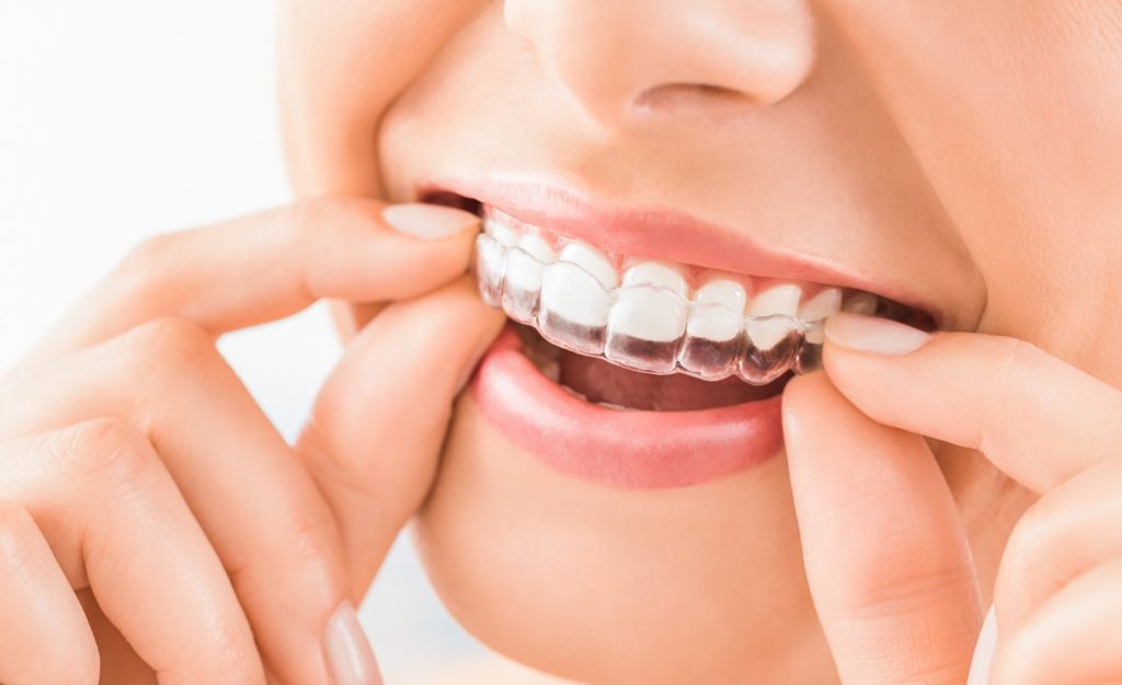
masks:
<path id="1" fill-rule="evenodd" d="M 480 295 L 509 318 L 472 383 L 484 416 L 591 481 L 683 487 L 778 454 L 782 389 L 838 311 L 937 327 L 890 287 L 670 212 L 522 184 L 419 197 L 484 220 Z"/>

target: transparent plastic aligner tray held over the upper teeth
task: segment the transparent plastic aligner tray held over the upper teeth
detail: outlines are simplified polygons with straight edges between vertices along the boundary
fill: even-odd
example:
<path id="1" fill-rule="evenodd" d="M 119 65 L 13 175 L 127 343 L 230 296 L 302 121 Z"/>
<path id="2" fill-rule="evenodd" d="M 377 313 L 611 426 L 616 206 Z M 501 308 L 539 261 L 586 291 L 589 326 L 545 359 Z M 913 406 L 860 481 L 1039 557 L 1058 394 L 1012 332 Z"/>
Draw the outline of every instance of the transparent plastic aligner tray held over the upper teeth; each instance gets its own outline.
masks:
<path id="1" fill-rule="evenodd" d="M 822 324 L 698 303 L 657 283 L 605 286 L 571 261 L 544 261 L 481 233 L 475 274 L 484 300 L 550 343 L 644 373 L 763 386 L 821 364 Z"/>

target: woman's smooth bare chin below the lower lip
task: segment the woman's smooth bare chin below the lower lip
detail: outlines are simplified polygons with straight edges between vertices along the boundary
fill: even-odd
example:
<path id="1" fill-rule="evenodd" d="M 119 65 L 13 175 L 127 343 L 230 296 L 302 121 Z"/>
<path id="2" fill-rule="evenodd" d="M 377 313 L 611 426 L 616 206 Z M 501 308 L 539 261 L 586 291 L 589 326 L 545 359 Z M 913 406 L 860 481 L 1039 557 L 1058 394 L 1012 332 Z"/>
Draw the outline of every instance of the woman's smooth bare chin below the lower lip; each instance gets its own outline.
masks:
<path id="1" fill-rule="evenodd" d="M 452 614 L 515 660 L 580 682 L 738 682 L 816 623 L 785 469 L 605 488 L 513 447 L 465 397 L 415 533 Z"/>

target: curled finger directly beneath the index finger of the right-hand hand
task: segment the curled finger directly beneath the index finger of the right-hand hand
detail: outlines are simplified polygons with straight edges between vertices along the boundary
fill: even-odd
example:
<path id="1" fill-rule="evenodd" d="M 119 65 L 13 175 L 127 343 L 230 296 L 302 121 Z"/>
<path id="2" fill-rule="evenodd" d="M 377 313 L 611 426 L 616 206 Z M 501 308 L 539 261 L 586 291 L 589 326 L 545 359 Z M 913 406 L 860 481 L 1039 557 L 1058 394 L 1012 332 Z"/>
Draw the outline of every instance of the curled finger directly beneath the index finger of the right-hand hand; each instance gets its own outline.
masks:
<path id="1" fill-rule="evenodd" d="M 1122 557 L 1120 488 L 1122 460 L 1115 459 L 1076 475 L 1024 512 L 997 572 L 1000 635 L 1017 630 L 1076 576 Z"/>

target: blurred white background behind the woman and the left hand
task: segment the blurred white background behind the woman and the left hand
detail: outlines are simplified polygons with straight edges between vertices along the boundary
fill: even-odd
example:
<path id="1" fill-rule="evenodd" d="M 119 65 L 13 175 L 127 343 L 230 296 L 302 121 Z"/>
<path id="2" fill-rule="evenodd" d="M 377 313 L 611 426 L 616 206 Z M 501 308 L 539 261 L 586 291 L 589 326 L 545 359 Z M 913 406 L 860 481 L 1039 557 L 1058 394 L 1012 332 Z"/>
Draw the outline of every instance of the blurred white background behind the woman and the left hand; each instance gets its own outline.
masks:
<path id="1" fill-rule="evenodd" d="M 273 15 L 0 0 L 0 370 L 145 237 L 287 201 Z M 339 354 L 322 306 L 220 349 L 289 438 Z M 447 615 L 407 536 L 360 613 L 390 685 L 541 682 Z"/>

